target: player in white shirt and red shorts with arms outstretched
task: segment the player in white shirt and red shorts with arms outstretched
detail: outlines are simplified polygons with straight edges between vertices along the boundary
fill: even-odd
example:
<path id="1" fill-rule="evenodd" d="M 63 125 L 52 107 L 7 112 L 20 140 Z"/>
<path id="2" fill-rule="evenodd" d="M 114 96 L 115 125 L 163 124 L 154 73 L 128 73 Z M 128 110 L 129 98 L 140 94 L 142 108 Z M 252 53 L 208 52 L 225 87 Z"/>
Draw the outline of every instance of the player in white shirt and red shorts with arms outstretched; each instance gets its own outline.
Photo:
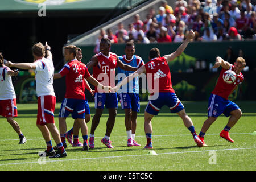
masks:
<path id="1" fill-rule="evenodd" d="M 36 126 L 41 131 L 44 140 L 46 140 L 46 156 L 52 158 L 62 158 L 67 156 L 63 144 L 61 143 L 60 134 L 54 123 L 54 110 L 56 97 L 53 89 L 54 66 L 52 63 L 51 47 L 43 46 L 42 43 L 36 43 L 32 46 L 32 55 L 34 63 L 11 63 L 10 67 L 20 69 L 35 69 L 36 94 L 38 96 L 38 116 Z M 47 58 L 45 58 L 45 55 Z M 58 151 L 55 153 L 52 147 L 51 134 L 57 144 Z"/>

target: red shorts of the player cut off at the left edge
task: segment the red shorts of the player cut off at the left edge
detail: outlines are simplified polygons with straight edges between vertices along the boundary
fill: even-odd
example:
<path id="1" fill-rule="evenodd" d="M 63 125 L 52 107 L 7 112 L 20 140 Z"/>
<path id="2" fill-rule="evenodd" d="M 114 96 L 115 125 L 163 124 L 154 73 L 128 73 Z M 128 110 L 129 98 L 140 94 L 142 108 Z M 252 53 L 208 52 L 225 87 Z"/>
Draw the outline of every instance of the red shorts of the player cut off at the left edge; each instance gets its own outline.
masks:
<path id="1" fill-rule="evenodd" d="M 16 98 L 0 100 L 0 115 L 6 118 L 18 116 Z"/>

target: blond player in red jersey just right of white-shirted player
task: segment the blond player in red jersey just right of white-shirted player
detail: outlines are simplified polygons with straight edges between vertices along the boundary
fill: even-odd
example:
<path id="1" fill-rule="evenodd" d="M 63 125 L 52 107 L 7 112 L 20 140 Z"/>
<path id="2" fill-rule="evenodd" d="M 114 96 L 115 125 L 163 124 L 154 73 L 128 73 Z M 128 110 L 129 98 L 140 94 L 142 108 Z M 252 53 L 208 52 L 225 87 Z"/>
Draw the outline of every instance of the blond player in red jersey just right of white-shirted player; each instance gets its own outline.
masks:
<path id="1" fill-rule="evenodd" d="M 64 47 L 64 58 L 67 63 L 59 73 L 55 73 L 54 79 L 59 79 L 66 76 L 66 93 L 65 98 L 60 106 L 59 113 L 59 127 L 60 138 L 65 143 L 65 134 L 67 131 L 66 118 L 71 113 L 72 118 L 76 119 L 75 122 L 79 122 L 82 132 L 82 138 L 84 139 L 82 150 L 89 150 L 88 148 L 88 128 L 85 123 L 85 84 L 84 78 L 88 80 L 94 86 L 99 86 L 101 89 L 108 89 L 108 86 L 101 85 L 96 79 L 90 76 L 88 69 L 84 63 L 81 63 L 76 59 L 77 47 L 73 45 Z M 109 92 L 106 91 L 106 92 Z"/>

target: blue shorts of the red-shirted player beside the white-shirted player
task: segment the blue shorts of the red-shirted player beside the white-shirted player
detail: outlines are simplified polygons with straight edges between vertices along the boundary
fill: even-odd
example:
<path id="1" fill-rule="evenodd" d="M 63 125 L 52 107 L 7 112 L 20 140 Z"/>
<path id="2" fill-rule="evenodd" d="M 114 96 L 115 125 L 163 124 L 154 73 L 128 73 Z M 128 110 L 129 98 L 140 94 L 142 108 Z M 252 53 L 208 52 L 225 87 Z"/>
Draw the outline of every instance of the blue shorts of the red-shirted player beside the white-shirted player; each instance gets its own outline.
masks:
<path id="1" fill-rule="evenodd" d="M 85 114 L 90 114 L 88 101 L 74 98 L 64 98 L 60 106 L 60 118 L 66 118 L 71 113 L 73 119 L 84 119 Z"/>

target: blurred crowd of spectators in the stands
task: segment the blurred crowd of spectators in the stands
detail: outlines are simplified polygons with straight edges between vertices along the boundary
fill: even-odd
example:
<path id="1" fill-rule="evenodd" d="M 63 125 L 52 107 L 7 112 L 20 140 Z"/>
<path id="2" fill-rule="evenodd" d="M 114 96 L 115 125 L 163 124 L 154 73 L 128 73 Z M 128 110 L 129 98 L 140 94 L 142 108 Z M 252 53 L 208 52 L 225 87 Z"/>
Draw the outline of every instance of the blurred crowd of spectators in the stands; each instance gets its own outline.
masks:
<path id="1" fill-rule="evenodd" d="M 255 39 L 255 11 L 251 0 L 177 0 L 175 7 L 162 1 L 144 20 L 136 14 L 133 23 L 119 23 L 115 32 L 101 29 L 96 45 L 102 37 L 112 43 L 182 42 L 191 29 L 195 41 Z"/>

